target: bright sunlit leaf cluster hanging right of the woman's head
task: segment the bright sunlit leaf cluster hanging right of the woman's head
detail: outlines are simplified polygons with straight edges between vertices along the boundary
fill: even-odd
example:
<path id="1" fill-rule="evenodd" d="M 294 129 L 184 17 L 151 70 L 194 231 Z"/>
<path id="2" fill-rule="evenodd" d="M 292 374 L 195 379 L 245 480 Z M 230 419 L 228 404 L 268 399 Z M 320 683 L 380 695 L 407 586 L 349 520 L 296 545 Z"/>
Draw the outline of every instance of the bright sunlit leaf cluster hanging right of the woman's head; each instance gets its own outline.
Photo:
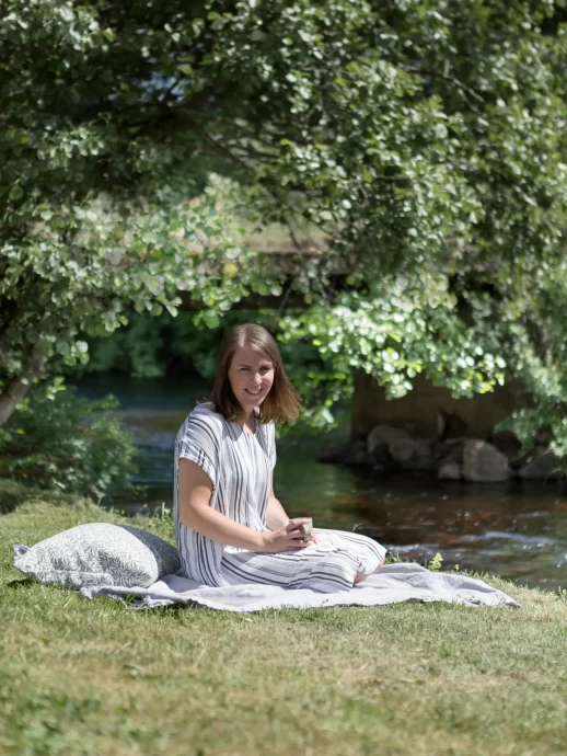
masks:
<path id="1" fill-rule="evenodd" d="M 309 337 L 334 370 L 361 368 L 391 398 L 412 390 L 425 371 L 459 394 L 491 390 L 502 377 L 501 357 L 475 353 L 478 328 L 455 320 L 453 296 L 442 275 L 412 282 L 387 278 L 372 299 L 345 294 L 332 307 L 315 306 L 280 322 L 286 343 Z M 315 336 L 315 337 L 313 337 Z"/>

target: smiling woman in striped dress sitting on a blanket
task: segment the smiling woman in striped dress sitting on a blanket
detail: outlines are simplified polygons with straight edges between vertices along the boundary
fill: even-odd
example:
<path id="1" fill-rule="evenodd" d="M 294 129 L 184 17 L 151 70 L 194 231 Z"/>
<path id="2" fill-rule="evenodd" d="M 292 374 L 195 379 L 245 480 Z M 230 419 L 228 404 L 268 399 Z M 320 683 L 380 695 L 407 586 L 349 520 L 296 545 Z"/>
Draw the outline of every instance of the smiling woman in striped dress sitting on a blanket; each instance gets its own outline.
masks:
<path id="1" fill-rule="evenodd" d="M 175 439 L 175 535 L 190 580 L 335 593 L 384 563 L 386 549 L 358 534 L 315 528 L 303 540 L 308 520 L 290 523 L 276 499 L 274 422 L 293 420 L 300 404 L 265 329 L 227 333 L 210 401 Z"/>

